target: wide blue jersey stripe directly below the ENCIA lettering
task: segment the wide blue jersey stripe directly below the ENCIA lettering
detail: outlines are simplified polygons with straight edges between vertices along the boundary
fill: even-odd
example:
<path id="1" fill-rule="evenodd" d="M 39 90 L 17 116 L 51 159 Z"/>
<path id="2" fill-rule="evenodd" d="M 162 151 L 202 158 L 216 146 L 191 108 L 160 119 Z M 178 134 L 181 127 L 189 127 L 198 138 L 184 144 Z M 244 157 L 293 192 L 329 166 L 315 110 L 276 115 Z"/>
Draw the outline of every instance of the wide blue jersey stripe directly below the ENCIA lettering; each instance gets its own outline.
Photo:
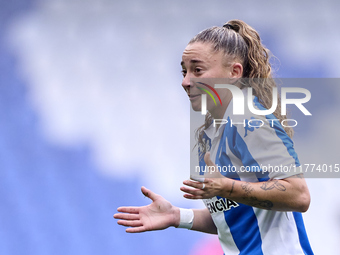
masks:
<path id="1" fill-rule="evenodd" d="M 241 255 L 263 255 L 260 229 L 251 206 L 239 204 L 225 211 L 224 218 Z"/>

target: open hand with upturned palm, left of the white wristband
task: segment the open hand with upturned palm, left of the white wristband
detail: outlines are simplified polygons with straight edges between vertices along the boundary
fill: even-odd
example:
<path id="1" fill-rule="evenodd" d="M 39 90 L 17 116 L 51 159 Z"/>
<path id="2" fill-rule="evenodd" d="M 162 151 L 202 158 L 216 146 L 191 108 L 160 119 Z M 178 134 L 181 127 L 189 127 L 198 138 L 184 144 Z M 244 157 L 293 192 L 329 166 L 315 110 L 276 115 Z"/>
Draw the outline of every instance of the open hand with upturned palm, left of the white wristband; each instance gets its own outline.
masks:
<path id="1" fill-rule="evenodd" d="M 128 233 L 140 233 L 151 230 L 161 230 L 179 224 L 179 209 L 151 190 L 142 187 L 142 193 L 152 200 L 146 206 L 124 206 L 117 209 L 113 217 L 117 223 L 129 227 Z"/>

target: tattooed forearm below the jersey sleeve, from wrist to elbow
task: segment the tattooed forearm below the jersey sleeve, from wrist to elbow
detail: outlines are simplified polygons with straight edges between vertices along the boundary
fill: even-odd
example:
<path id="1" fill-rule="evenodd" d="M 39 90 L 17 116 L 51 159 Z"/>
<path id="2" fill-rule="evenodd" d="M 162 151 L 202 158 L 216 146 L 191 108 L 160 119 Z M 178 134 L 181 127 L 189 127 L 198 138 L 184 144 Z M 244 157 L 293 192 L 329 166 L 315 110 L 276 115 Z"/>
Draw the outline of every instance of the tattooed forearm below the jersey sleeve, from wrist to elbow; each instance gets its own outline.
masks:
<path id="1" fill-rule="evenodd" d="M 222 197 L 262 209 L 305 212 L 310 203 L 305 180 L 299 177 L 257 183 L 225 178 L 223 182 Z"/>

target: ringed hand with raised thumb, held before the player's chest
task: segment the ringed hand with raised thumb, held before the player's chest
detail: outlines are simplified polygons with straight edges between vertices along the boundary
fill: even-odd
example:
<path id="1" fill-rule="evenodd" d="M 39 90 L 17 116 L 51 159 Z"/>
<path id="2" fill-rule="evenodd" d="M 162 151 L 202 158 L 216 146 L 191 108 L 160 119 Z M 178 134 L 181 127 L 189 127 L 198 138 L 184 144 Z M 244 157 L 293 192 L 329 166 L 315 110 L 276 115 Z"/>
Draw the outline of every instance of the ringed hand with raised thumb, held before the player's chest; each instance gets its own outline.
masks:
<path id="1" fill-rule="evenodd" d="M 185 192 L 183 196 L 188 199 L 207 199 L 214 196 L 222 196 L 225 188 L 230 188 L 232 180 L 224 177 L 218 170 L 217 166 L 210 159 L 210 152 L 204 156 L 204 161 L 208 166 L 202 181 L 185 180 L 184 185 L 189 187 L 181 187 L 181 191 Z"/>

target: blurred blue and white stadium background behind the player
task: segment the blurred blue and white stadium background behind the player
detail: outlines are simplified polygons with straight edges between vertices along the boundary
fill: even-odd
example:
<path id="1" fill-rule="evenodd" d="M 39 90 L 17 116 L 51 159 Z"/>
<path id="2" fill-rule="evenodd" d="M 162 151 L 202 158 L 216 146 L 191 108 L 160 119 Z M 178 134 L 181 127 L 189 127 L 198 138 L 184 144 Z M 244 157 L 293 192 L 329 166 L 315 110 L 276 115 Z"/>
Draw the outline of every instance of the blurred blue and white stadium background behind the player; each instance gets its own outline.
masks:
<path id="1" fill-rule="evenodd" d="M 0 254 L 215 254 L 215 236 L 131 235 L 112 218 L 149 202 L 142 185 L 203 206 L 179 191 L 189 175 L 179 63 L 200 30 L 242 19 L 279 59 L 277 77 L 340 76 L 335 0 L 0 4 Z M 340 88 L 314 91 L 326 103 L 310 103 L 319 119 L 299 124 L 296 148 L 304 162 L 340 163 Z M 315 254 L 340 254 L 339 180 L 307 180 Z"/>

